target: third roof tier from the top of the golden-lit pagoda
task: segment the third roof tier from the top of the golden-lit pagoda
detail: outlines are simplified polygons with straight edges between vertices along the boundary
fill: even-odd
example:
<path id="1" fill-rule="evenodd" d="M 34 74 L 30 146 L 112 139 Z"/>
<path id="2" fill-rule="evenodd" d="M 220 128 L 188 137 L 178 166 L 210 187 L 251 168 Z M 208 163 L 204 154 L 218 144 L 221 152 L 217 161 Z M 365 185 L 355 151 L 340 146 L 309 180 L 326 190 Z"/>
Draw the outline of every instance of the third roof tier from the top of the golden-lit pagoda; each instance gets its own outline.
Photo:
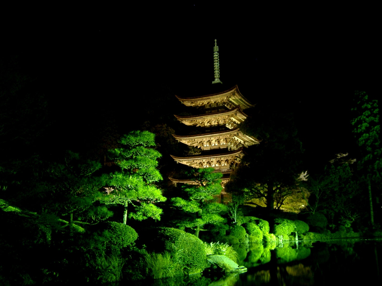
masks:
<path id="1" fill-rule="evenodd" d="M 236 150 L 243 146 L 248 148 L 248 146 L 260 143 L 260 140 L 245 135 L 238 128 L 223 132 L 204 133 L 200 135 L 179 136 L 173 134 L 173 137 L 181 143 L 201 148 L 202 150 L 222 148 Z"/>

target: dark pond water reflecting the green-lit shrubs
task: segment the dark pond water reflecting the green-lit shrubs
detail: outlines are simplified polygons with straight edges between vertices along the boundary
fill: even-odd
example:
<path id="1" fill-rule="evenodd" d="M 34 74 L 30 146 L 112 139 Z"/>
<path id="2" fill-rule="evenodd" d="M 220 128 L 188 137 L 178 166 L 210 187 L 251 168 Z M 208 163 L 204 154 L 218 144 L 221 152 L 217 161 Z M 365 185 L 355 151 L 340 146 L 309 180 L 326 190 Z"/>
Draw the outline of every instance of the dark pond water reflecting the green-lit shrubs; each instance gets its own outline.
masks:
<path id="1" fill-rule="evenodd" d="M 223 278 L 194 276 L 187 281 L 136 281 L 157 286 L 382 285 L 382 239 L 299 241 L 233 246 L 246 273 Z M 129 283 L 130 284 L 130 283 Z"/>

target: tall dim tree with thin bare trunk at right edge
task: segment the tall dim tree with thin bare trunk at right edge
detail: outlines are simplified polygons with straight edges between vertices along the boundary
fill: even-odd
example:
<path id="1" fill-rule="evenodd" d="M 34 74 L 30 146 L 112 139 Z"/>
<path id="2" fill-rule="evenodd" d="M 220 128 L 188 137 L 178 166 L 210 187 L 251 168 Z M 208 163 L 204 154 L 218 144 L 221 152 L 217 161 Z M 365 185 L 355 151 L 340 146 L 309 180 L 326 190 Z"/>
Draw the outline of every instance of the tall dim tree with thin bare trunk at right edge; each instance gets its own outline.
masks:
<path id="1" fill-rule="evenodd" d="M 366 92 L 355 92 L 356 107 L 352 111 L 357 116 L 351 121 L 358 146 L 361 147 L 362 158 L 358 161 L 358 170 L 366 182 L 369 193 L 370 222 L 374 225 L 374 211 L 372 201 L 372 184 L 380 183 L 382 169 L 382 146 L 380 146 L 379 109 L 377 100 L 368 100 Z"/>

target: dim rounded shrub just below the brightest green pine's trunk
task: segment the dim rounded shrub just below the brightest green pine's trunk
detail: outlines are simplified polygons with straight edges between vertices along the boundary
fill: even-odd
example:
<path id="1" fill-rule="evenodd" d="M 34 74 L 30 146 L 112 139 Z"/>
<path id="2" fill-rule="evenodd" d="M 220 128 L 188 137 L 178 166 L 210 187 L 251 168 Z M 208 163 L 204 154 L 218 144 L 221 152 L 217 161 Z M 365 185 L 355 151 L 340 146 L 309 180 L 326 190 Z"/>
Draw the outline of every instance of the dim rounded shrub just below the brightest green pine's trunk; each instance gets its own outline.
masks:
<path id="1" fill-rule="evenodd" d="M 110 247 L 113 253 L 118 253 L 122 247 L 134 246 L 134 241 L 138 238 L 134 228 L 119 222 L 106 222 L 105 225 L 110 234 L 106 246 Z"/>

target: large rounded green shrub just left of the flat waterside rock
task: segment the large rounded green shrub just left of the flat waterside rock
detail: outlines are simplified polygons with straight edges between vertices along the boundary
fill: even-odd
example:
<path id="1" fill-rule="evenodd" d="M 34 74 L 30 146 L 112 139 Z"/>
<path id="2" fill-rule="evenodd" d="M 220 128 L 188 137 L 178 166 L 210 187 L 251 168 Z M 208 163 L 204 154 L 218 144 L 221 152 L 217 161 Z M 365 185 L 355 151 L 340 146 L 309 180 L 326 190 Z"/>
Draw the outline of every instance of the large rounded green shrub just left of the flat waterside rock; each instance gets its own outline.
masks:
<path id="1" fill-rule="evenodd" d="M 167 227 L 160 228 L 158 236 L 164 243 L 164 250 L 172 254 L 174 262 L 189 268 L 206 268 L 206 249 L 199 238 L 183 230 Z"/>

